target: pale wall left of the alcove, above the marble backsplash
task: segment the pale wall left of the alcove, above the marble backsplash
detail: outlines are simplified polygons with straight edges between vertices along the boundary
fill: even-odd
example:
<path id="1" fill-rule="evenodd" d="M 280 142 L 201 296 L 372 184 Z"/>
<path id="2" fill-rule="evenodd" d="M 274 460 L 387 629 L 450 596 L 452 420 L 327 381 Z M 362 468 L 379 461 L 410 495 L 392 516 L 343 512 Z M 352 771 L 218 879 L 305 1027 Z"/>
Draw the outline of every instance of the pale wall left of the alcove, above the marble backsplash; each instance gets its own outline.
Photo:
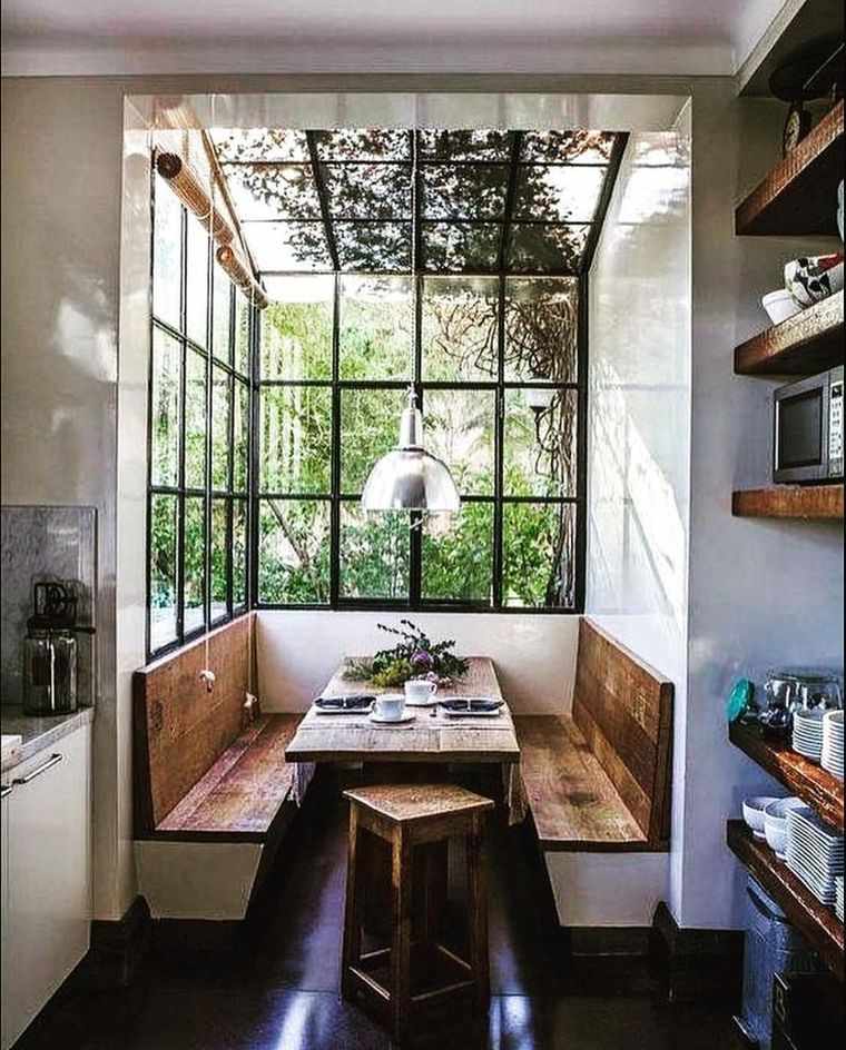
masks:
<path id="1" fill-rule="evenodd" d="M 3 81 L 2 502 L 97 507 L 95 913 L 120 913 L 115 631 L 122 100 Z"/>

